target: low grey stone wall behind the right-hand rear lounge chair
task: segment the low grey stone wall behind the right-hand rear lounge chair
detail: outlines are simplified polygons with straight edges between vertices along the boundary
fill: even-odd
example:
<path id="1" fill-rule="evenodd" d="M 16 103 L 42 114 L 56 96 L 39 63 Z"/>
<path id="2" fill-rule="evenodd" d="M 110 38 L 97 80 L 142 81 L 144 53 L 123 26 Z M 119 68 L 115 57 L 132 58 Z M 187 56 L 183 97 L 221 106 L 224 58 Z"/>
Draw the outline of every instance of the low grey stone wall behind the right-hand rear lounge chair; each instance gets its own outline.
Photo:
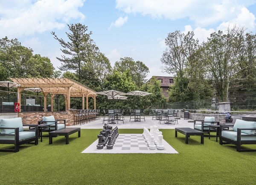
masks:
<path id="1" fill-rule="evenodd" d="M 184 118 L 183 112 L 178 112 L 177 117 Z M 198 114 L 198 113 L 189 113 L 190 120 L 204 120 L 204 117 L 215 117 L 215 121 L 219 121 L 220 124 L 226 123 L 225 114 Z"/>

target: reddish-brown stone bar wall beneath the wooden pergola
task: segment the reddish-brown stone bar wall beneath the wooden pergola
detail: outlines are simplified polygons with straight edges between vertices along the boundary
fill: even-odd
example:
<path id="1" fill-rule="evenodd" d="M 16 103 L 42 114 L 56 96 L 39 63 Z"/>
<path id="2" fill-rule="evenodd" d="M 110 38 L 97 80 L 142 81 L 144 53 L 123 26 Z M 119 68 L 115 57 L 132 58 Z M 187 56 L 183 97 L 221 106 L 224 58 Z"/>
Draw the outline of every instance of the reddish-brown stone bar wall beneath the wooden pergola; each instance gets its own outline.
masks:
<path id="1" fill-rule="evenodd" d="M 18 117 L 22 118 L 23 124 L 38 124 L 44 116 L 54 116 L 56 120 L 66 120 L 66 125 L 74 125 L 74 114 L 79 110 L 68 110 L 67 112 L 19 112 Z"/>

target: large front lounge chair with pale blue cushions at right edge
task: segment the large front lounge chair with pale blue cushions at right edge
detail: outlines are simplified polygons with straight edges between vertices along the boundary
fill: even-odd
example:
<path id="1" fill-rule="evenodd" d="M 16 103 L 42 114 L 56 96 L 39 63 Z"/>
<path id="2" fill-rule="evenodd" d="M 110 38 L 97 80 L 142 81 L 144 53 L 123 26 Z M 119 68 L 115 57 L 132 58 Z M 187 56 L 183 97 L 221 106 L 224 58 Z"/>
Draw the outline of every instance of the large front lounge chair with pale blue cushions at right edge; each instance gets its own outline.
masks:
<path id="1" fill-rule="evenodd" d="M 256 144 L 256 122 L 237 119 L 232 130 L 223 130 L 220 125 L 220 145 L 236 145 L 236 151 L 256 151 L 256 149 L 241 149 L 241 145 Z"/>

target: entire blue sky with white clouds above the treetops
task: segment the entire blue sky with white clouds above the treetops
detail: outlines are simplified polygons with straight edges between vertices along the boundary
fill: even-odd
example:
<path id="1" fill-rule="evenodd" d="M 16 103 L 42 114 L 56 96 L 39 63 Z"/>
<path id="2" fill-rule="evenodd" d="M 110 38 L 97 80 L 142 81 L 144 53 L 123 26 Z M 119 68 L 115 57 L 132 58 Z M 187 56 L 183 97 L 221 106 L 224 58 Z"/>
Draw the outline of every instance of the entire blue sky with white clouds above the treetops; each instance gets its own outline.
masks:
<path id="1" fill-rule="evenodd" d="M 200 42 L 227 26 L 255 33 L 255 0 L 0 0 L 0 37 L 17 38 L 34 54 L 49 57 L 56 69 L 67 23 L 82 23 L 111 65 L 120 57 L 145 63 L 150 74 L 161 70 L 168 33 L 194 31 Z"/>

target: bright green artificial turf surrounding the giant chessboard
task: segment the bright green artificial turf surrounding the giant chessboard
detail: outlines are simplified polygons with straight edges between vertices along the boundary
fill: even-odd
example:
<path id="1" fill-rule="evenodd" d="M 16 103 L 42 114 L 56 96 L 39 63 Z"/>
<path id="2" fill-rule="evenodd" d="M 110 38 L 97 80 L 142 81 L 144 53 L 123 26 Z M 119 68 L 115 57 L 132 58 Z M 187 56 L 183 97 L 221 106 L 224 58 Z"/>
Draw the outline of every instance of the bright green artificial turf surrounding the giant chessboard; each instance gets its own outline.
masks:
<path id="1" fill-rule="evenodd" d="M 256 152 L 237 152 L 215 137 L 185 136 L 163 129 L 164 139 L 179 154 L 81 154 L 97 139 L 99 129 L 81 129 L 65 138 L 43 138 L 21 145 L 17 153 L 0 152 L 0 184 L 255 184 Z M 119 129 L 119 133 L 142 133 Z M 3 145 L 0 145 L 2 147 Z M 256 148 L 256 145 L 248 145 Z"/>

